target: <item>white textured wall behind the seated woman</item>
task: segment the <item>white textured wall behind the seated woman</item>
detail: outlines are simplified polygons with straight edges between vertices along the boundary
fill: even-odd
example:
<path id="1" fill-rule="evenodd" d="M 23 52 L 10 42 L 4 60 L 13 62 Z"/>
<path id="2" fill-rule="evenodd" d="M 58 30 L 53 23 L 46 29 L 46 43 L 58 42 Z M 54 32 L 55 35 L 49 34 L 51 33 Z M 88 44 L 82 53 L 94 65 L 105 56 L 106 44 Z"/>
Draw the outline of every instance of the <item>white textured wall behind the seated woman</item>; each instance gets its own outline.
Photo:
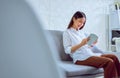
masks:
<path id="1" fill-rule="evenodd" d="M 85 31 L 99 36 L 98 46 L 107 48 L 107 26 L 109 4 L 114 0 L 31 0 L 43 18 L 45 29 L 65 30 L 76 11 L 83 11 L 87 15 Z"/>

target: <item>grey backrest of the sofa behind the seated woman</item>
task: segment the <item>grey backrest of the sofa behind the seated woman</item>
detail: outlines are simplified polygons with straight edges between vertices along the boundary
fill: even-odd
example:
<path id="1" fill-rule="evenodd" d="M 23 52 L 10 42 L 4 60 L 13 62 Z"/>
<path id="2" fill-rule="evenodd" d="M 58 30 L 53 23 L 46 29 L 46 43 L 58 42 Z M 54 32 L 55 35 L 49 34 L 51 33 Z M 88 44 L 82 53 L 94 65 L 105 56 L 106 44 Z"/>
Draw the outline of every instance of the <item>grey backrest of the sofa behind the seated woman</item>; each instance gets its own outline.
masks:
<path id="1" fill-rule="evenodd" d="M 60 30 L 47 30 L 54 41 L 54 45 L 59 53 L 61 60 L 63 61 L 72 61 L 72 58 L 65 54 L 64 47 L 63 47 L 63 31 Z"/>

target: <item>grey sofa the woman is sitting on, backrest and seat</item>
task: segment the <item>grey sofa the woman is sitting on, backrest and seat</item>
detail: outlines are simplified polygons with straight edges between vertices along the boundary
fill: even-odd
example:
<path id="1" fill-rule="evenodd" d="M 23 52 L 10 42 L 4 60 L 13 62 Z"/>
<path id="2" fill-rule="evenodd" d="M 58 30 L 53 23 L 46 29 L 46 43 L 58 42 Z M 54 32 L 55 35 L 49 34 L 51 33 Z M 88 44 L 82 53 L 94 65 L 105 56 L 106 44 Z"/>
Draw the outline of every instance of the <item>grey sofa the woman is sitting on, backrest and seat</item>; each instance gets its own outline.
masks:
<path id="1" fill-rule="evenodd" d="M 75 65 L 72 58 L 65 54 L 63 48 L 62 34 L 60 30 L 47 30 L 54 41 L 54 45 L 57 49 L 60 57 L 60 68 L 65 72 L 66 78 L 97 78 L 103 77 L 103 68 L 95 68 L 91 66 Z M 97 50 L 97 49 L 96 49 Z"/>

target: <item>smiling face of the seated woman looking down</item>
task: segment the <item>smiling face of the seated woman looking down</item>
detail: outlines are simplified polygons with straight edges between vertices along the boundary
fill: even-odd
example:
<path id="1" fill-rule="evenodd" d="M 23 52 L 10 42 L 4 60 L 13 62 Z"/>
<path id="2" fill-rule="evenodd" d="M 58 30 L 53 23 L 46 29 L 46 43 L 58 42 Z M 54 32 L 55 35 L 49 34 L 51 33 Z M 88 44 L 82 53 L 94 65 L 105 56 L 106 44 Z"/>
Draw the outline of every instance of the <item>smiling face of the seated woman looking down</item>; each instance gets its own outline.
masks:
<path id="1" fill-rule="evenodd" d="M 75 28 L 76 30 L 79 30 L 85 23 L 85 18 L 73 18 L 73 28 Z"/>

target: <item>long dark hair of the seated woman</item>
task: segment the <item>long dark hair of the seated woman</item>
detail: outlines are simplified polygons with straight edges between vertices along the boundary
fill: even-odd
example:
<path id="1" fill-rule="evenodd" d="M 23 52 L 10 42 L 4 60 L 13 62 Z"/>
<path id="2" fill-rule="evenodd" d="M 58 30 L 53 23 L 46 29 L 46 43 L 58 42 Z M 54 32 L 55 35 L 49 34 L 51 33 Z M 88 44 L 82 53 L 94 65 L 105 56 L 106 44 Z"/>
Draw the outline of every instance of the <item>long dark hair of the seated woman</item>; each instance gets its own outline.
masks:
<path id="1" fill-rule="evenodd" d="M 69 23 L 69 25 L 68 25 L 68 27 L 67 27 L 68 29 L 71 28 L 72 25 L 73 25 L 73 17 L 74 17 L 75 19 L 85 18 L 85 23 L 86 23 L 86 15 L 85 15 L 85 13 L 80 12 L 80 11 L 77 11 L 77 12 L 72 16 L 71 21 L 70 21 L 70 23 Z M 84 27 L 85 23 L 83 24 L 83 26 L 82 26 L 80 29 L 82 29 L 82 28 Z M 80 30 L 80 29 L 79 29 L 79 30 Z"/>

